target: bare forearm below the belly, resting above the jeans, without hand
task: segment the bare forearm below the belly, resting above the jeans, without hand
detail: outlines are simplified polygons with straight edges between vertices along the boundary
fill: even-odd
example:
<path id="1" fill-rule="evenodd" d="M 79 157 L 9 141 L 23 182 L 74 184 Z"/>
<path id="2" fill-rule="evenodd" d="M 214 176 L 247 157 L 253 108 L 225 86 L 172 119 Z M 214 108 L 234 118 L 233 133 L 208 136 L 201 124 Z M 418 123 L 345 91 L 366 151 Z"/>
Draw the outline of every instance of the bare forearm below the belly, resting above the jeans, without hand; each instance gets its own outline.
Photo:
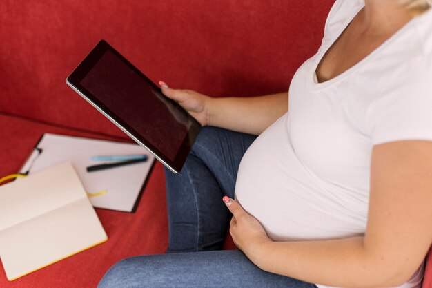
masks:
<path id="1" fill-rule="evenodd" d="M 369 253 L 363 237 L 262 244 L 251 260 L 261 269 L 335 287 L 394 287 L 408 280 L 401 263 Z"/>

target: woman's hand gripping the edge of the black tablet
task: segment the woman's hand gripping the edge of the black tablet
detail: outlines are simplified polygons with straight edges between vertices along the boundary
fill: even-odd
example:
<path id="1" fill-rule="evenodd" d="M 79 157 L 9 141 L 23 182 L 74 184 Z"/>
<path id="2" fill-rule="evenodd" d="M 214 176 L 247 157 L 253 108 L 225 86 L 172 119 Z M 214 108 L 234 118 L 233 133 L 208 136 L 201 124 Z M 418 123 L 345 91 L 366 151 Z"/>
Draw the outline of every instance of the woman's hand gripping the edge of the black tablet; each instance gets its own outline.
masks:
<path id="1" fill-rule="evenodd" d="M 177 102 L 184 110 L 197 119 L 202 126 L 208 125 L 209 102 L 211 97 L 197 93 L 193 90 L 172 89 L 164 81 L 159 81 L 162 93 Z"/>

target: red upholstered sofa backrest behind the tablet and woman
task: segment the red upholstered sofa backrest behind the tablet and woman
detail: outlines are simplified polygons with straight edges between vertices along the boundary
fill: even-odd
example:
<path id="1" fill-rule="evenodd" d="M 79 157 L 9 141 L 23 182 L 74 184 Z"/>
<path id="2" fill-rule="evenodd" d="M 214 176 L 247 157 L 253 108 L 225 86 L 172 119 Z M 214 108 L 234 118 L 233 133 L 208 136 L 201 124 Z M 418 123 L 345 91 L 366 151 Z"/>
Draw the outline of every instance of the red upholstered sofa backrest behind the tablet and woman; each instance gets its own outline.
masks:
<path id="1" fill-rule="evenodd" d="M 333 2 L 2 1 L 0 112 L 123 135 L 65 84 L 100 39 L 155 83 L 216 97 L 286 91 Z"/>

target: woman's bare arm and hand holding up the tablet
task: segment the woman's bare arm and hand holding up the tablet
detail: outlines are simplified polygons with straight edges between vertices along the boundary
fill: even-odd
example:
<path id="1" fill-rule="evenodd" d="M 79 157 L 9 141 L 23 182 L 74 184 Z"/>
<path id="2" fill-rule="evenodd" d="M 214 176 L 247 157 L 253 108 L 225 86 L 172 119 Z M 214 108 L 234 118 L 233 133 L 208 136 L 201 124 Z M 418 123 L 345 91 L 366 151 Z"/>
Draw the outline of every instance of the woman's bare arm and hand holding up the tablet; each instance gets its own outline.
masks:
<path id="1" fill-rule="evenodd" d="M 288 111 L 288 93 L 212 98 L 193 90 L 168 88 L 164 82 L 159 84 L 164 95 L 177 101 L 203 126 L 259 135 Z"/>

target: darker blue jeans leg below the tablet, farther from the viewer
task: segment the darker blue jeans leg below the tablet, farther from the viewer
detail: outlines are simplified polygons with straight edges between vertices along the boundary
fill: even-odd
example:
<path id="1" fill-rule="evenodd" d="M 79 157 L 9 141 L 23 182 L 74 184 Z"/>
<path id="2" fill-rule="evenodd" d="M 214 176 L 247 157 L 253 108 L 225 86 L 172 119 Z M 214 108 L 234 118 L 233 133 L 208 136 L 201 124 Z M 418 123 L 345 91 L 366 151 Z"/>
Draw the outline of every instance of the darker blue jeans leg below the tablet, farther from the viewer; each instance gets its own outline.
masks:
<path id="1" fill-rule="evenodd" d="M 200 131 L 180 174 L 166 175 L 168 253 L 222 249 L 240 161 L 256 136 L 215 127 Z"/>

